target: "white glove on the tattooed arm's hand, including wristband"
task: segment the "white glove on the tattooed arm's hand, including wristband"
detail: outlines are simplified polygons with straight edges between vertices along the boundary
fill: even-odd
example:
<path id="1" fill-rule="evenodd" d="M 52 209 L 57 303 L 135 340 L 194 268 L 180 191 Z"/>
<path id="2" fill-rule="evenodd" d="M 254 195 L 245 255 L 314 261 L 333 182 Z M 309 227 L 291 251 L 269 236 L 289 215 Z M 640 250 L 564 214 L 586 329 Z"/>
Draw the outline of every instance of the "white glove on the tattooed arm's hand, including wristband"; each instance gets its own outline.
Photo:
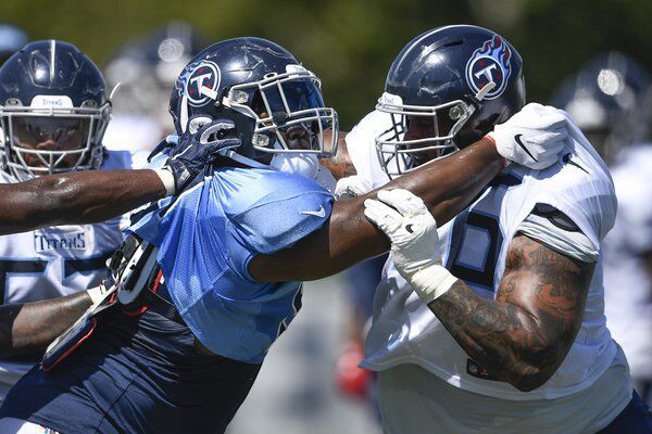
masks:
<path id="1" fill-rule="evenodd" d="M 364 215 L 391 242 L 392 260 L 426 304 L 446 294 L 457 279 L 441 266 L 437 222 L 421 197 L 408 190 L 380 190 L 364 201 Z"/>

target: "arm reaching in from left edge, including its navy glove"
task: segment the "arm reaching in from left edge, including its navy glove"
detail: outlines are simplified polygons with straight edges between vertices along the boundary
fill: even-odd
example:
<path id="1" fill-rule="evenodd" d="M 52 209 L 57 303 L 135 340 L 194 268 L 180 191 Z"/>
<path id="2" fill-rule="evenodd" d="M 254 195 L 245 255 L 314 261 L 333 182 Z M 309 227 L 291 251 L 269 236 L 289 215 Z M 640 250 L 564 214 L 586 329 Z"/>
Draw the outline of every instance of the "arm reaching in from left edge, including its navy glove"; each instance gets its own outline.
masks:
<path id="1" fill-rule="evenodd" d="M 170 158 L 158 170 L 88 170 L 0 186 L 0 234 L 43 226 L 92 224 L 180 192 L 220 153 L 240 145 L 235 124 L 216 119 L 161 142 Z"/>

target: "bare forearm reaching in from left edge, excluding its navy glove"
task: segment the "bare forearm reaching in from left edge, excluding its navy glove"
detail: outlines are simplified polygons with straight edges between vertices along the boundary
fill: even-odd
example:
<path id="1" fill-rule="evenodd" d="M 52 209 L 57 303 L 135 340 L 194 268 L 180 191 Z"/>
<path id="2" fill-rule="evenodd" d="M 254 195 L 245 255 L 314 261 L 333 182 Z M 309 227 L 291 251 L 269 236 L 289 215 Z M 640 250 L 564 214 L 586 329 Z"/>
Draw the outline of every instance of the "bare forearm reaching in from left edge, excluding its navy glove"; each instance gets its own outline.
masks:
<path id="1" fill-rule="evenodd" d="M 0 234 L 103 221 L 166 195 L 154 170 L 92 170 L 0 186 Z"/>

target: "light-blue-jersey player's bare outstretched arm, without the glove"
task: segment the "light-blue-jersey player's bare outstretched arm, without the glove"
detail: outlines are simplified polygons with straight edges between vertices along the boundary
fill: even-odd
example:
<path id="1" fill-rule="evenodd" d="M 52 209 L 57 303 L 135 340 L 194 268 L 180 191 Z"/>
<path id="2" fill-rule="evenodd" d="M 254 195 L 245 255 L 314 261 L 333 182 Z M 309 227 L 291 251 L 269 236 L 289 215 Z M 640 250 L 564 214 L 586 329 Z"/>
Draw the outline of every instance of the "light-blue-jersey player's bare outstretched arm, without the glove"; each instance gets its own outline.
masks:
<path id="1" fill-rule="evenodd" d="M 503 158 L 488 139 L 418 167 L 384 187 L 403 188 L 423 197 L 438 221 L 460 213 L 503 168 Z M 337 201 L 324 227 L 290 248 L 255 256 L 249 266 L 260 281 L 316 280 L 335 275 L 389 248 L 387 238 L 364 217 L 364 200 Z"/>

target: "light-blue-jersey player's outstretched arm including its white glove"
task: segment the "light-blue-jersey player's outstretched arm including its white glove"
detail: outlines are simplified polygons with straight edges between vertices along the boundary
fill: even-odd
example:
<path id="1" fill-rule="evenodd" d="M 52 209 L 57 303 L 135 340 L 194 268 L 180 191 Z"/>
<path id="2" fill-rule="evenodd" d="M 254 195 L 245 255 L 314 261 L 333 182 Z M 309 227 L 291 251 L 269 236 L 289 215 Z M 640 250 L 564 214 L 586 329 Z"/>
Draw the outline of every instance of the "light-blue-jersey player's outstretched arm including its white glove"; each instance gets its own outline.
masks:
<path id="1" fill-rule="evenodd" d="M 566 118 L 561 111 L 528 104 L 496 126 L 491 137 L 425 164 L 384 189 L 400 188 L 416 194 L 443 224 L 464 209 L 507 159 L 531 168 L 556 163 L 566 136 Z M 337 201 L 321 230 L 290 248 L 255 256 L 249 264 L 249 272 L 263 282 L 315 280 L 386 252 L 387 239 L 364 217 L 365 199 L 375 196 L 376 191 L 372 191 Z"/>

